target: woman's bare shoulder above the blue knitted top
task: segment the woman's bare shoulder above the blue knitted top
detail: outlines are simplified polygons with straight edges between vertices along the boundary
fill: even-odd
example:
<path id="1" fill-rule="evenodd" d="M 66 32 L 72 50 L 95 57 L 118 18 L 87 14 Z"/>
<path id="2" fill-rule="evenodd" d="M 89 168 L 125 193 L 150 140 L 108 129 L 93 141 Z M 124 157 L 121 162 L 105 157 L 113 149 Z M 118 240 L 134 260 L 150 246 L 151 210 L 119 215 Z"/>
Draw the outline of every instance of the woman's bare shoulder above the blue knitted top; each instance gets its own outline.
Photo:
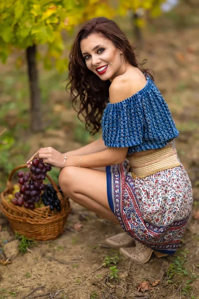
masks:
<path id="1" fill-rule="evenodd" d="M 131 97 L 146 85 L 144 75 L 124 74 L 113 79 L 109 87 L 109 102 L 117 103 Z"/>

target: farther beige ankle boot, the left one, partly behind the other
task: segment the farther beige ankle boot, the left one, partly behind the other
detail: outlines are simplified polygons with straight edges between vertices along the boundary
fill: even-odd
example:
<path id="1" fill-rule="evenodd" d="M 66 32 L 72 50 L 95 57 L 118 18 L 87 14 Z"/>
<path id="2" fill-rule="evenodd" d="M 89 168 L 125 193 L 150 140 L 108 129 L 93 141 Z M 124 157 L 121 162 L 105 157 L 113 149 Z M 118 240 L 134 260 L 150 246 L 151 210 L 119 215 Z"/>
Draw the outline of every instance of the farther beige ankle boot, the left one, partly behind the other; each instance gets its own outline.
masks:
<path id="1" fill-rule="evenodd" d="M 127 233 L 120 233 L 110 238 L 107 238 L 104 241 L 104 243 L 112 248 L 120 248 L 135 245 L 134 239 Z"/>

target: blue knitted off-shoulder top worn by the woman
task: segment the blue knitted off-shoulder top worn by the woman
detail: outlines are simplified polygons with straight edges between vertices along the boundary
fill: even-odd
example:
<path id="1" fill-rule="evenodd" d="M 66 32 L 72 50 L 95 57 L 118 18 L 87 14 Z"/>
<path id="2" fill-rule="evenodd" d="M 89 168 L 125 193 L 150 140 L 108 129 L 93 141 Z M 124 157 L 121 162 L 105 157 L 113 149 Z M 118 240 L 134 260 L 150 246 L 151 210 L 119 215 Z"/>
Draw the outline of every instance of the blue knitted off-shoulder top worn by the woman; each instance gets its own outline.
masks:
<path id="1" fill-rule="evenodd" d="M 107 104 L 101 128 L 105 146 L 128 147 L 128 154 L 163 148 L 179 135 L 167 103 L 149 76 L 130 98 Z"/>

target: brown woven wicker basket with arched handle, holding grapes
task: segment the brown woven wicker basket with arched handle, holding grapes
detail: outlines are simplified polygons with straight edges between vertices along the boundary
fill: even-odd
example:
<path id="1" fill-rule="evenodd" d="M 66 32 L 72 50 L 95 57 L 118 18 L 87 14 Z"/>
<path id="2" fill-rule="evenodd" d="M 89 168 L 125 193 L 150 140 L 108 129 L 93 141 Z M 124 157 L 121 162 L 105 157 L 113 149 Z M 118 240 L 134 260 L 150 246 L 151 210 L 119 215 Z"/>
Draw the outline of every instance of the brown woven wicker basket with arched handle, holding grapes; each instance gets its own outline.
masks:
<path id="1" fill-rule="evenodd" d="M 67 217 L 71 212 L 69 198 L 62 196 L 59 192 L 57 184 L 52 178 L 46 174 L 48 180 L 57 192 L 57 196 L 61 201 L 61 212 L 50 210 L 49 206 L 35 208 L 34 210 L 26 209 L 18 205 L 14 205 L 5 200 L 5 196 L 12 192 L 13 186 L 11 179 L 15 171 L 27 168 L 27 164 L 15 167 L 8 176 L 7 187 L 2 191 L 0 198 L 0 209 L 7 217 L 13 232 L 18 232 L 33 240 L 53 240 L 60 236 L 63 232 Z"/>

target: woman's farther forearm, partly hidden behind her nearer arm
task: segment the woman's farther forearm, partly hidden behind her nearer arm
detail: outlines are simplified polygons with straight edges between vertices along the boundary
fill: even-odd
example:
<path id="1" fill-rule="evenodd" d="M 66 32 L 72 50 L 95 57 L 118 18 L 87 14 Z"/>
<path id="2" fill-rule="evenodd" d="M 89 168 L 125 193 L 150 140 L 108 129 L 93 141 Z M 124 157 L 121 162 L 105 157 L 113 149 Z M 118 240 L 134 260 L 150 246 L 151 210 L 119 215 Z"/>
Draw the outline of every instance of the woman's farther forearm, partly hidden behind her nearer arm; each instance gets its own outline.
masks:
<path id="1" fill-rule="evenodd" d="M 102 138 L 99 138 L 98 140 L 76 150 L 71 150 L 68 152 L 65 152 L 64 155 L 71 156 L 71 155 L 83 155 L 83 154 L 90 154 L 90 153 L 95 153 L 98 151 L 102 151 L 108 149 L 102 140 Z"/>

